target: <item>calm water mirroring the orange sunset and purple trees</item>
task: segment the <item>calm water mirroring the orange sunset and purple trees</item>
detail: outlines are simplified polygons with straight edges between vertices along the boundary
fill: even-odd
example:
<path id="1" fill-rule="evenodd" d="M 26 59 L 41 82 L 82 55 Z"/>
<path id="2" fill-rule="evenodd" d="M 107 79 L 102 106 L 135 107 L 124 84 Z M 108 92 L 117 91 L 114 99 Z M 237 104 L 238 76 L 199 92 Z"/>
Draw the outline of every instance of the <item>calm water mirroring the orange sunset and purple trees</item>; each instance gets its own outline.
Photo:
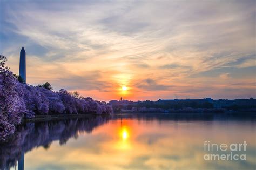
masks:
<path id="1" fill-rule="evenodd" d="M 26 123 L 0 144 L 1 169 L 255 169 L 255 114 L 118 114 Z M 204 142 L 246 141 L 246 160 L 205 160 Z"/>

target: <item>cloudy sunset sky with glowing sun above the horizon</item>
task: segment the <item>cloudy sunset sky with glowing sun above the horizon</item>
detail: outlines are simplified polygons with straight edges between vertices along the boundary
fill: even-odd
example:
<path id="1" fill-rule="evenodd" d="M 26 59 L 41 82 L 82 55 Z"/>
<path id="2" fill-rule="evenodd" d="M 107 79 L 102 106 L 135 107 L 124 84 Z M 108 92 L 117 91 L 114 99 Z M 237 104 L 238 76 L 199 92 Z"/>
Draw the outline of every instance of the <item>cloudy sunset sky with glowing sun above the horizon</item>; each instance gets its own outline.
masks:
<path id="1" fill-rule="evenodd" d="M 0 53 L 26 83 L 97 100 L 256 98 L 255 1 L 3 1 Z"/>

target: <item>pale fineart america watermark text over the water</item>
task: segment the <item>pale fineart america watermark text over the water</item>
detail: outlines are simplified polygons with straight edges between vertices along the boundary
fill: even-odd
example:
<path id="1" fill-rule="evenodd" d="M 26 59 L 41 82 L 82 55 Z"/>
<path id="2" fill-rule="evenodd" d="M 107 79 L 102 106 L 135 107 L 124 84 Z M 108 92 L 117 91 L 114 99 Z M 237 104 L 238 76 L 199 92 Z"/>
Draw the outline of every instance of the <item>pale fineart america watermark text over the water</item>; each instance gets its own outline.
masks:
<path id="1" fill-rule="evenodd" d="M 246 160 L 246 141 L 240 144 L 214 144 L 204 141 L 204 160 Z"/>

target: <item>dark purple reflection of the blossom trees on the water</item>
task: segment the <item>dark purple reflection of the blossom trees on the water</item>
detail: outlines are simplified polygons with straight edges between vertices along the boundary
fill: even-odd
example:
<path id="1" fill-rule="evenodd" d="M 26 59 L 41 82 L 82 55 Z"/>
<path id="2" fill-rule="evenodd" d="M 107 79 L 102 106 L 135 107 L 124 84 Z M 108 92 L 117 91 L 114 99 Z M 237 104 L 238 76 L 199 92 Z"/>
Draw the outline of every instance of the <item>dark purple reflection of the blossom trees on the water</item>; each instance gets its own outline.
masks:
<path id="1" fill-rule="evenodd" d="M 70 138 L 78 138 L 79 133 L 91 133 L 93 128 L 103 125 L 109 117 L 91 117 L 84 119 L 66 119 L 41 123 L 26 123 L 17 127 L 17 131 L 8 140 L 0 144 L 0 169 L 16 166 L 24 167 L 24 153 L 43 146 L 49 149 L 52 142 L 58 140 L 64 145 Z"/>

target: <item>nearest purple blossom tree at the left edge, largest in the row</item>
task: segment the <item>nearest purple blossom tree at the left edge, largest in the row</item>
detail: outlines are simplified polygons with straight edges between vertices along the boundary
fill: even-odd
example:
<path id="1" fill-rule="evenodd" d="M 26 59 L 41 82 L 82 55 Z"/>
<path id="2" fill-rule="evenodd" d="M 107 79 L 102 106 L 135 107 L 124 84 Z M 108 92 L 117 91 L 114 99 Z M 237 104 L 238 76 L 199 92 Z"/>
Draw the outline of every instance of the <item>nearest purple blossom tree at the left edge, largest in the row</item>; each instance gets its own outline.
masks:
<path id="1" fill-rule="evenodd" d="M 6 60 L 0 55 L 0 139 L 14 132 L 25 112 L 22 85 L 5 67 Z"/>

